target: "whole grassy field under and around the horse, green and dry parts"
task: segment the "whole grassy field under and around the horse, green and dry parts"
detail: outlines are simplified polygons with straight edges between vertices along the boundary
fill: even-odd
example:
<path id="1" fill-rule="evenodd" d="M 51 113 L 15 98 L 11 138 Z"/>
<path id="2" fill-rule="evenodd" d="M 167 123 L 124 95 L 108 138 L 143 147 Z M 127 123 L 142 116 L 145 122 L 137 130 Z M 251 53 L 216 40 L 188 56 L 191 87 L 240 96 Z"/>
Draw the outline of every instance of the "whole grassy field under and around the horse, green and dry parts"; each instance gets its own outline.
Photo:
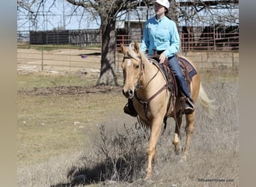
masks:
<path id="1" fill-rule="evenodd" d="M 237 73 L 201 72 L 201 79 L 215 117 L 196 105 L 185 163 L 174 154 L 168 119 L 144 182 L 148 133 L 124 114 L 121 86 L 96 88 L 97 76 L 81 73 L 18 73 L 17 186 L 238 186 Z"/>

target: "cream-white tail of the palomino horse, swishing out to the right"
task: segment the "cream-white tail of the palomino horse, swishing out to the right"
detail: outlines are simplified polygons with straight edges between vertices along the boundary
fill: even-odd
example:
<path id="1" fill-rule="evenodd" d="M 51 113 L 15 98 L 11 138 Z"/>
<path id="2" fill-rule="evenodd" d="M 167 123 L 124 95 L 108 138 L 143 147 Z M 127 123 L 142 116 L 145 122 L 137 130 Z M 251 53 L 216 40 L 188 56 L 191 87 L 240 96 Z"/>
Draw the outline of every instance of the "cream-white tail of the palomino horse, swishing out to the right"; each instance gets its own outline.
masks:
<path id="1" fill-rule="evenodd" d="M 204 91 L 203 85 L 200 84 L 199 95 L 198 95 L 199 102 L 203 107 L 203 110 L 209 117 L 213 117 L 214 111 L 216 110 L 216 106 L 213 105 L 214 100 L 209 99 L 207 93 Z"/>

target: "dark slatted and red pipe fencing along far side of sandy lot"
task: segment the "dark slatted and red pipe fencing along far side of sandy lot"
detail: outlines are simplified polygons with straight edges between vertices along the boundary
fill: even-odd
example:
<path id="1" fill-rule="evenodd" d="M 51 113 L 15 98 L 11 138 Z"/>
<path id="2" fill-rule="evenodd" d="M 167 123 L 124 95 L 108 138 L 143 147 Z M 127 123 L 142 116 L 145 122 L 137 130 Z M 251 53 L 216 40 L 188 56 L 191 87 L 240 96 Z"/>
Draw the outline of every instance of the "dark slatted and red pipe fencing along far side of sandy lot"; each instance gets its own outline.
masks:
<path id="1" fill-rule="evenodd" d="M 118 34 L 116 36 L 116 46 L 120 49 L 120 43 L 129 44 L 140 42 L 141 34 Z M 72 45 L 91 46 L 101 45 L 99 30 L 70 30 L 70 31 L 18 31 L 18 42 L 28 42 L 30 44 L 52 44 L 52 45 Z M 238 51 L 239 32 L 219 33 L 192 32 L 180 34 L 181 50 L 183 52 L 210 50 L 210 51 Z"/>

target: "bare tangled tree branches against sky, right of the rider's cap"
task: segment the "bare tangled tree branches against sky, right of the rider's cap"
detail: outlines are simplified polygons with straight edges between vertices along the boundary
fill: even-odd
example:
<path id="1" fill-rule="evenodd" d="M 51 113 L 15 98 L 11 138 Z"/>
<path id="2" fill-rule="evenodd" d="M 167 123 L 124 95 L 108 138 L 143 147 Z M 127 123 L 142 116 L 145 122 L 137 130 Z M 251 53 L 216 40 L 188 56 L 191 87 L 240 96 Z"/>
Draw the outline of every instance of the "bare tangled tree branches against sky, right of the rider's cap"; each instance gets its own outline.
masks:
<path id="1" fill-rule="evenodd" d="M 239 0 L 171 1 L 176 4 L 179 19 L 188 25 L 204 22 L 239 25 Z"/>

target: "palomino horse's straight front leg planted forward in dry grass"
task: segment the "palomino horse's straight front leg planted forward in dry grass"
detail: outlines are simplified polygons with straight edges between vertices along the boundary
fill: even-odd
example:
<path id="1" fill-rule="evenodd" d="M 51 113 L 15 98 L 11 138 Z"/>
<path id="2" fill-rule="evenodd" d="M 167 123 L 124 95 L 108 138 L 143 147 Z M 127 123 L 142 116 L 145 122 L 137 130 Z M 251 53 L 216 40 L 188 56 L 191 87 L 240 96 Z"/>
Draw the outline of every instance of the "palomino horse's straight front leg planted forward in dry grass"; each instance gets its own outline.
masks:
<path id="1" fill-rule="evenodd" d="M 156 142 L 159 138 L 161 127 L 162 127 L 162 117 L 158 117 L 152 121 L 150 139 L 147 145 L 147 175 L 145 180 L 150 180 L 152 174 L 152 159 L 156 162 Z"/>

